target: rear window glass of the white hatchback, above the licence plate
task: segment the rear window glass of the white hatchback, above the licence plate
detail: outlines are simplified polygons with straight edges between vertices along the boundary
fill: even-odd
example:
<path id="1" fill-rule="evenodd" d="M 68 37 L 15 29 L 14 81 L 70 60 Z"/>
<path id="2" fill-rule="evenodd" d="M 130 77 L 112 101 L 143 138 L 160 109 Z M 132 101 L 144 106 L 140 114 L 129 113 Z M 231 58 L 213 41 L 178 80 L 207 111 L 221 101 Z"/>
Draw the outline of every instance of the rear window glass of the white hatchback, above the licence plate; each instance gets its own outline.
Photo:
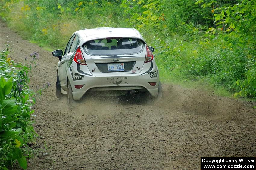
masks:
<path id="1" fill-rule="evenodd" d="M 88 55 L 129 55 L 143 51 L 144 43 L 136 38 L 91 40 L 83 44 Z"/>

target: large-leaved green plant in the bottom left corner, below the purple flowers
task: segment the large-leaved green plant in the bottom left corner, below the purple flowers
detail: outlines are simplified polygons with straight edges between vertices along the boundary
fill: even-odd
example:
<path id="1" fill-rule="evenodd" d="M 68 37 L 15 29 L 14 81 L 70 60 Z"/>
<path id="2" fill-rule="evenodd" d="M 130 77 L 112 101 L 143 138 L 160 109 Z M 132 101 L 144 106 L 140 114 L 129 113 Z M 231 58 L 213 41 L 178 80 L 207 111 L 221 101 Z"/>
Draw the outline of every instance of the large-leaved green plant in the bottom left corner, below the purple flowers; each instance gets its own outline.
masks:
<path id="1" fill-rule="evenodd" d="M 28 114 L 21 112 L 21 107 L 17 105 L 14 97 L 5 98 L 12 90 L 12 78 L 5 81 L 4 77 L 0 79 L 0 142 L 1 162 L 12 164 L 17 160 L 23 169 L 27 169 L 26 157 L 22 155 L 20 147 L 23 145 L 23 139 L 20 134 L 24 124 L 19 119 L 27 119 Z M 24 99 L 25 100 L 25 99 Z M 7 169 L 6 167 L 2 167 Z"/>

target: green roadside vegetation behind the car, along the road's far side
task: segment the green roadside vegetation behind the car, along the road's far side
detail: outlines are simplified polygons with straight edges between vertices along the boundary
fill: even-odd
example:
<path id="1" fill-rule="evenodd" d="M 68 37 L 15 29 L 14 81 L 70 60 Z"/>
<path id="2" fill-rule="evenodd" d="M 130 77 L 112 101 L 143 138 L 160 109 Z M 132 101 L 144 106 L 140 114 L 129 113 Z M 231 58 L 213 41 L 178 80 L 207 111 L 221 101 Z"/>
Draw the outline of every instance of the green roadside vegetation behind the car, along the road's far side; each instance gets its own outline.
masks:
<path id="1" fill-rule="evenodd" d="M 64 49 L 83 28 L 136 28 L 155 47 L 162 81 L 207 83 L 256 99 L 255 0 L 3 0 L 0 15 L 50 49 Z"/>

